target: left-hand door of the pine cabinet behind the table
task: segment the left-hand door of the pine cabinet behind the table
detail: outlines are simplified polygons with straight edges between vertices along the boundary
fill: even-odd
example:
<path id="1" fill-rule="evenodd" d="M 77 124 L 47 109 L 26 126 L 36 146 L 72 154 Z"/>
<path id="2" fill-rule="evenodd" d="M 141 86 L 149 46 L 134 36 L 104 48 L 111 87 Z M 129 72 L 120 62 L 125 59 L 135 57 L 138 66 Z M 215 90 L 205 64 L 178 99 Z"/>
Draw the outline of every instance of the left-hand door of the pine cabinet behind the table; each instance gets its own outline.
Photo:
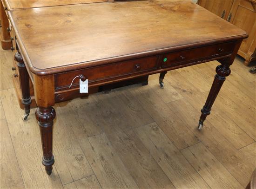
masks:
<path id="1" fill-rule="evenodd" d="M 198 0 L 198 4 L 227 20 L 234 0 Z"/>

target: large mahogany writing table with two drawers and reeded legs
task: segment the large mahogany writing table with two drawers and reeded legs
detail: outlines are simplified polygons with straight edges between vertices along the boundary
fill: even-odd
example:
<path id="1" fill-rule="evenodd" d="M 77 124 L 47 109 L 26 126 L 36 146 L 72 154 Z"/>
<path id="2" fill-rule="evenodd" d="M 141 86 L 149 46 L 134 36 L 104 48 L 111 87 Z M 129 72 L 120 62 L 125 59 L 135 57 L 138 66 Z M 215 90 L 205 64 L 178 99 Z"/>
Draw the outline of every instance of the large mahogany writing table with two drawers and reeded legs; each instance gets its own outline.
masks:
<path id="1" fill-rule="evenodd" d="M 243 30 L 189 1 L 149 0 L 40 7 L 8 12 L 17 39 L 22 99 L 30 111 L 29 78 L 38 108 L 43 160 L 51 174 L 56 102 L 92 87 L 218 60 L 198 129 L 229 76 Z M 72 80 L 74 83 L 69 88 Z M 161 89 L 159 89 L 161 90 Z M 185 115 L 184 115 L 185 116 Z"/>

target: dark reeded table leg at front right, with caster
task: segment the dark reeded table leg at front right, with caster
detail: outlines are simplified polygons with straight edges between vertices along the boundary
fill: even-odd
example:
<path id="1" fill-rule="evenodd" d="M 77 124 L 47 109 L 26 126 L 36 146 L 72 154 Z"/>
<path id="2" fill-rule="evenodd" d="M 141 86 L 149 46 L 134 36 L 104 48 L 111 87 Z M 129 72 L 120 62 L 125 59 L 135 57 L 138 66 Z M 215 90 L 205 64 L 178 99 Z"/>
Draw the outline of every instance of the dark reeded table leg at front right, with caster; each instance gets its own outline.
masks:
<path id="1" fill-rule="evenodd" d="M 204 104 L 201 112 L 201 117 L 199 120 L 199 124 L 198 124 L 198 130 L 202 129 L 203 126 L 203 122 L 206 119 L 206 117 L 210 114 L 211 111 L 211 107 L 222 87 L 223 82 L 225 81 L 226 77 L 229 76 L 230 74 L 230 68 L 229 68 L 230 64 L 228 63 L 223 63 L 222 65 L 218 65 L 216 67 L 216 75 L 211 87 L 211 90 L 209 92 L 208 98 L 206 100 L 206 103 Z"/>

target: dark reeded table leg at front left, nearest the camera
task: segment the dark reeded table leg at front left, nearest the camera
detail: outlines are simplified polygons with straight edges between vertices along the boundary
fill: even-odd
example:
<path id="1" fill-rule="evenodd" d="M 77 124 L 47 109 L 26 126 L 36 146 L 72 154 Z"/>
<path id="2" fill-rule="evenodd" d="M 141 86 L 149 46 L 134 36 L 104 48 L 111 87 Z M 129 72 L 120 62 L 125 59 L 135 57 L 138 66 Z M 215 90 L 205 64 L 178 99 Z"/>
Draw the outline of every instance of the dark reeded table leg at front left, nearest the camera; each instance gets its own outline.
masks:
<path id="1" fill-rule="evenodd" d="M 53 156 L 53 124 L 55 118 L 55 110 L 53 107 L 39 107 L 35 111 L 35 117 L 38 121 L 41 134 L 41 143 L 43 149 L 42 163 L 48 175 L 51 175 L 54 156 Z"/>

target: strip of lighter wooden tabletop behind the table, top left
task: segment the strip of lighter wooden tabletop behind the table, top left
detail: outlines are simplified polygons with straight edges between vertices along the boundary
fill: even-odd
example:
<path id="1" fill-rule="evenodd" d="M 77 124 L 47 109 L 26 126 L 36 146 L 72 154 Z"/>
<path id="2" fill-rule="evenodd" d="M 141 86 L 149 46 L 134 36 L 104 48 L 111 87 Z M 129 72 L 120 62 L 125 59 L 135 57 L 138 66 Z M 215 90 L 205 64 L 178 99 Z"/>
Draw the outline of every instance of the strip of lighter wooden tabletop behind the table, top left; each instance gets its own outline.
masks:
<path id="1" fill-rule="evenodd" d="M 106 2 L 108 0 L 4 0 L 8 9 L 51 7 L 82 3 Z"/>

